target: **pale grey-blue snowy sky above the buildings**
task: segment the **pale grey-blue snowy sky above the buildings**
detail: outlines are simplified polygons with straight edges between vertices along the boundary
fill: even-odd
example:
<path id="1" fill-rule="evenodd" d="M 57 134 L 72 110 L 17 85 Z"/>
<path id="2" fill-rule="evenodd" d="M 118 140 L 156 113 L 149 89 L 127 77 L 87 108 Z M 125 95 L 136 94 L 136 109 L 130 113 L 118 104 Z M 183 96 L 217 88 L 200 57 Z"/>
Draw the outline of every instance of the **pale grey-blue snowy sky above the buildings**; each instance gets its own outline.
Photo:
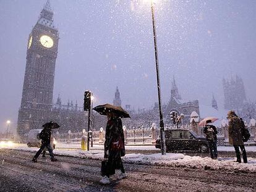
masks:
<path id="1" fill-rule="evenodd" d="M 0 131 L 17 123 L 28 35 L 46 0 L 0 0 Z M 95 104 L 149 108 L 157 101 L 150 4 L 135 1 L 51 0 L 59 29 L 54 101 L 93 91 Z M 173 75 L 182 99 L 223 106 L 222 78 L 243 78 L 255 101 L 256 1 L 157 0 L 156 31 L 163 102 Z"/>

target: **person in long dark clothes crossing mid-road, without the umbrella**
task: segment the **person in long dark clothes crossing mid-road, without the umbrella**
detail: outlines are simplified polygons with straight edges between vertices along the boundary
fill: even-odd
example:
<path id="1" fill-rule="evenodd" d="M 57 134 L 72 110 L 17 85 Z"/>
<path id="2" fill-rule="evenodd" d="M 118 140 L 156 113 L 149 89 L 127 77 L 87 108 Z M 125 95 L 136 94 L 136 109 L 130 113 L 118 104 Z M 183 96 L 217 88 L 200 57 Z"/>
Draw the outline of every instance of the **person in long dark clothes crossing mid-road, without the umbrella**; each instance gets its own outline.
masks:
<path id="1" fill-rule="evenodd" d="M 121 169 L 119 179 L 127 177 L 122 164 L 121 156 L 125 155 L 124 148 L 124 131 L 122 129 L 122 120 L 117 117 L 113 112 L 108 112 L 108 122 L 106 125 L 106 135 L 104 144 L 104 158 L 101 164 L 101 175 L 103 178 L 100 180 L 103 184 L 109 183 L 110 175 L 114 175 L 116 169 Z"/>

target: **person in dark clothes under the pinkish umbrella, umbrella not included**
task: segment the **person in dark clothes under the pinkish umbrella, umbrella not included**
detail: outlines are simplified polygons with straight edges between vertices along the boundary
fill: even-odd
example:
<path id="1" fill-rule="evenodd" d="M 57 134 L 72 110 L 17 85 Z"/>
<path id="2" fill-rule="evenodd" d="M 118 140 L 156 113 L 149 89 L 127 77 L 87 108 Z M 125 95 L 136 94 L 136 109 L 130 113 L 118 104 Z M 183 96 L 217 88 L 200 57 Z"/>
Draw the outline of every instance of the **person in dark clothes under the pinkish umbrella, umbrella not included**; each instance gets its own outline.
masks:
<path id="1" fill-rule="evenodd" d="M 208 144 L 211 159 L 217 159 L 218 151 L 217 151 L 217 129 L 214 125 L 210 125 L 211 120 L 207 120 L 203 133 L 205 133 Z"/>

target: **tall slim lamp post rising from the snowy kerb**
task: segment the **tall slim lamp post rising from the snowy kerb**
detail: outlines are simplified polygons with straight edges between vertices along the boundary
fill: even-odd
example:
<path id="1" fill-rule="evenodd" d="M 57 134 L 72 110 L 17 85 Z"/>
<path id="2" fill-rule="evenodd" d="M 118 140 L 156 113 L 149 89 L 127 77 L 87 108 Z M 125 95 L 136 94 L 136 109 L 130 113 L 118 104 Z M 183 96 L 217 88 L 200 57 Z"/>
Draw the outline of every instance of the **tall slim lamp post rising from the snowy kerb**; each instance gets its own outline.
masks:
<path id="1" fill-rule="evenodd" d="M 161 109 L 161 87 L 160 87 L 160 75 L 158 67 L 158 51 L 156 43 L 156 28 L 155 28 L 155 16 L 154 16 L 154 7 L 153 0 L 151 0 L 151 13 L 152 13 L 152 23 L 153 23 L 153 35 L 155 43 L 155 61 L 156 61 L 156 79 L 157 79 L 157 88 L 158 88 L 158 104 L 159 104 L 159 115 L 160 115 L 160 139 L 161 139 L 161 154 L 166 155 L 166 146 L 164 138 L 164 123 L 163 123 L 163 114 Z"/>

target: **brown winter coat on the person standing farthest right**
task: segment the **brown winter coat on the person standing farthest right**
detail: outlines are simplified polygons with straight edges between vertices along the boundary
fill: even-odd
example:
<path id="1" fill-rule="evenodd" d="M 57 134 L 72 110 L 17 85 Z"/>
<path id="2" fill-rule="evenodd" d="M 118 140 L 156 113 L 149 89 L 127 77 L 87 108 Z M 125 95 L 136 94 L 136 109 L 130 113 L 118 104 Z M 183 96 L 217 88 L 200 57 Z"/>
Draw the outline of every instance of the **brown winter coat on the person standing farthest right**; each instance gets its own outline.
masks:
<path id="1" fill-rule="evenodd" d="M 229 116 L 228 135 L 229 144 L 244 145 L 242 140 L 242 125 L 241 120 L 237 116 Z"/>

